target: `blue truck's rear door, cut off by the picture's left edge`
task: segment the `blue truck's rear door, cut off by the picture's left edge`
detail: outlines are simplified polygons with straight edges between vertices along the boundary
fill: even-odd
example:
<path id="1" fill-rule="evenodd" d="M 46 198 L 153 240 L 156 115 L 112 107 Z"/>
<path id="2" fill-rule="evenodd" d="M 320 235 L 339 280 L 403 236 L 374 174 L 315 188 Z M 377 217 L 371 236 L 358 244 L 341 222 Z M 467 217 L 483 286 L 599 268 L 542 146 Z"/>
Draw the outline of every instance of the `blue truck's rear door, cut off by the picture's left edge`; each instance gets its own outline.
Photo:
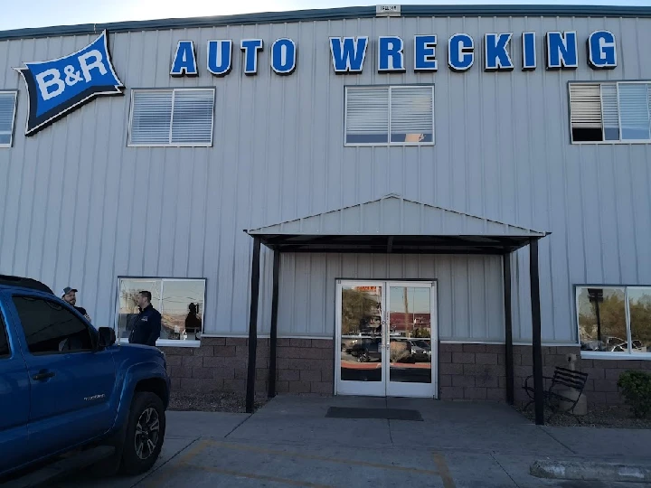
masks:
<path id="1" fill-rule="evenodd" d="M 30 461 L 26 442 L 30 383 L 7 316 L 0 300 L 0 472 Z"/>

